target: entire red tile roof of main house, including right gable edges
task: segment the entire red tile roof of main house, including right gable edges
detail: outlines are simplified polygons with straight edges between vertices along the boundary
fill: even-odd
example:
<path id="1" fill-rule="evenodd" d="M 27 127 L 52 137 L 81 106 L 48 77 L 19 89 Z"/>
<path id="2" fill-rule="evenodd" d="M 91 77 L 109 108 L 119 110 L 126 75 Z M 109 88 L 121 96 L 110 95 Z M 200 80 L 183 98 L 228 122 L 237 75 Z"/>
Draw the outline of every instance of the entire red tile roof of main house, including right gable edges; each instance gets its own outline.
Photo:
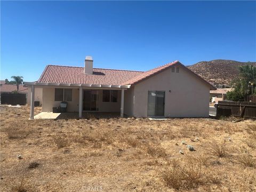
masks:
<path id="1" fill-rule="evenodd" d="M 131 70 L 115 70 L 115 69 L 98 69 L 93 68 L 93 74 L 85 74 L 83 67 L 67 67 L 48 65 L 37 82 L 39 83 L 70 83 L 70 84 L 101 84 L 101 85 L 133 85 L 152 75 L 174 66 L 179 65 L 189 73 L 201 79 L 210 86 L 211 90 L 215 90 L 209 82 L 195 74 L 193 71 L 182 65 L 179 61 L 173 61 L 166 65 L 142 72 Z"/>

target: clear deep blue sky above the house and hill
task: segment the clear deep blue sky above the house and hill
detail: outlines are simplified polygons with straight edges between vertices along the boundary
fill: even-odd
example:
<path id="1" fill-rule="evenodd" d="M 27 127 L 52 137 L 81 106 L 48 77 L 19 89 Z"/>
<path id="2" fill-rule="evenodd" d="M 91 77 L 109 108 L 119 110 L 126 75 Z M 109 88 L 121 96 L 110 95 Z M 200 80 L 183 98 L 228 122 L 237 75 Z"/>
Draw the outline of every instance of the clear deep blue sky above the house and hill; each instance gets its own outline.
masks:
<path id="1" fill-rule="evenodd" d="M 46 65 L 145 71 L 256 61 L 255 1 L 1 1 L 1 79 Z"/>

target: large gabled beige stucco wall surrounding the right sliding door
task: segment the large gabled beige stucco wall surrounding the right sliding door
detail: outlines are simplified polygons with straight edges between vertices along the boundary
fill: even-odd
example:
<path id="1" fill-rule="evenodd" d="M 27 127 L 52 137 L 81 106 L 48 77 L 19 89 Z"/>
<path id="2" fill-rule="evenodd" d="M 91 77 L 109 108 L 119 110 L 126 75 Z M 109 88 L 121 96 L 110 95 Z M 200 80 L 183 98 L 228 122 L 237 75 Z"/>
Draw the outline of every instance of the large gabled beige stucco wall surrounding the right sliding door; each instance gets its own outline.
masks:
<path id="1" fill-rule="evenodd" d="M 147 117 L 148 91 L 155 90 L 165 91 L 164 116 L 209 117 L 210 86 L 182 67 L 180 73 L 167 69 L 134 85 L 135 117 Z"/>

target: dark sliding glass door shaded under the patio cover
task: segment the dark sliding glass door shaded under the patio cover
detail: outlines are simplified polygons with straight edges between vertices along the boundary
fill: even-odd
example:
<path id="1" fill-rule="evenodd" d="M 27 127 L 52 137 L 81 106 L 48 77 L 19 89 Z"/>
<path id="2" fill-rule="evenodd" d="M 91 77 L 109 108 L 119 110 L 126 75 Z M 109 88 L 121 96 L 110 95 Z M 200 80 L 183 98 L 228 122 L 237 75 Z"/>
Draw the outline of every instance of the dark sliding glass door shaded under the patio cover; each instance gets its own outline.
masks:
<path id="1" fill-rule="evenodd" d="M 84 90 L 83 110 L 87 110 L 87 111 L 99 110 L 99 91 Z"/>

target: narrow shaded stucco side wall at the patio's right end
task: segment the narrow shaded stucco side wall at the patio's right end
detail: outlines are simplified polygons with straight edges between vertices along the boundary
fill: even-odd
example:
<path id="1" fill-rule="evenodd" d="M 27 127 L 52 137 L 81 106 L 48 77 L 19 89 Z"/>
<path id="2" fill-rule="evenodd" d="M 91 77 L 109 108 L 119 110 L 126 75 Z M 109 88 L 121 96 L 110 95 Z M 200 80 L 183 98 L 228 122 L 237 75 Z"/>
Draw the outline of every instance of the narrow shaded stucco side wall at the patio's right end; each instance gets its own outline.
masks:
<path id="1" fill-rule="evenodd" d="M 134 87 L 124 91 L 124 114 L 133 116 Z"/>

